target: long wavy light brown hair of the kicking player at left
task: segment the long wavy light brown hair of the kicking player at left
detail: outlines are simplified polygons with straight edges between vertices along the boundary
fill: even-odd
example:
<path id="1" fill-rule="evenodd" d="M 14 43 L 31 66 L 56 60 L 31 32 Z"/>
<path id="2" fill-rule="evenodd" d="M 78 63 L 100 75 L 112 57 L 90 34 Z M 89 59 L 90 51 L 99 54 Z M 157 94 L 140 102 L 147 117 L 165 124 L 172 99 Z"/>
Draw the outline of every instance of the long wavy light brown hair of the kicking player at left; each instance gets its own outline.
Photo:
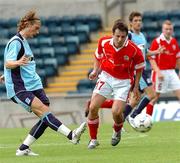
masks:
<path id="1" fill-rule="evenodd" d="M 39 24 L 41 26 L 40 18 L 36 15 L 36 12 L 33 10 L 28 11 L 26 15 L 21 18 L 17 25 L 18 32 L 26 28 L 29 24 Z"/>

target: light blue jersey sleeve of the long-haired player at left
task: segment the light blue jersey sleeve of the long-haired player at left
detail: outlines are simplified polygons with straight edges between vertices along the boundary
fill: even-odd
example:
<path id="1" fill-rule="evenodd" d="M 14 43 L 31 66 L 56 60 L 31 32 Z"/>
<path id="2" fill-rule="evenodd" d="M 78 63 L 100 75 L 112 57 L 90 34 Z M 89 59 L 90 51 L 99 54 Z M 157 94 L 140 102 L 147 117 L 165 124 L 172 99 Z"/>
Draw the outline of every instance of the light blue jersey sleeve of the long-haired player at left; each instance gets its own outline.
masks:
<path id="1" fill-rule="evenodd" d="M 4 57 L 5 61 L 16 61 L 20 49 L 21 43 L 18 40 L 10 42 Z"/>

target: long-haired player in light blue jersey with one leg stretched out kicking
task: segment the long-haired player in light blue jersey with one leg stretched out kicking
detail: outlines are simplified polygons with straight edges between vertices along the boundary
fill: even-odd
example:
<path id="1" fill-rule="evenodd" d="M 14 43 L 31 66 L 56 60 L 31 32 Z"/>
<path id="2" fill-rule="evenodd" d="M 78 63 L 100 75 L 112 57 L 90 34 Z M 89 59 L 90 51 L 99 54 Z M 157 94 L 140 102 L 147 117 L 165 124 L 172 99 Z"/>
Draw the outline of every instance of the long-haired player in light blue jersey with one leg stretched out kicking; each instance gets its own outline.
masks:
<path id="1" fill-rule="evenodd" d="M 29 11 L 20 20 L 18 33 L 9 40 L 4 52 L 4 78 L 8 98 L 40 118 L 16 151 L 16 156 L 37 156 L 29 147 L 47 127 L 65 135 L 73 144 L 79 142 L 86 127 L 86 123 L 82 123 L 72 131 L 50 112 L 50 102 L 36 73 L 34 55 L 27 42 L 28 38 L 39 33 L 40 26 L 36 12 Z"/>

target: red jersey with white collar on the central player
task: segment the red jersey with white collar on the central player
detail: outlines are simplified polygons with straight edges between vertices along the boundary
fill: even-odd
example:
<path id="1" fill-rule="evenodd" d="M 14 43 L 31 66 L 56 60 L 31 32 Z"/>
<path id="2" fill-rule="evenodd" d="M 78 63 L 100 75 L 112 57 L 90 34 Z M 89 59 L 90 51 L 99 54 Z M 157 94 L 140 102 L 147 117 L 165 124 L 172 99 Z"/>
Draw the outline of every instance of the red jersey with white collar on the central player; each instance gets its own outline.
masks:
<path id="1" fill-rule="evenodd" d="M 127 39 L 121 48 L 116 48 L 112 36 L 99 40 L 95 57 L 103 71 L 118 79 L 132 79 L 134 70 L 145 66 L 141 50 L 132 41 Z"/>

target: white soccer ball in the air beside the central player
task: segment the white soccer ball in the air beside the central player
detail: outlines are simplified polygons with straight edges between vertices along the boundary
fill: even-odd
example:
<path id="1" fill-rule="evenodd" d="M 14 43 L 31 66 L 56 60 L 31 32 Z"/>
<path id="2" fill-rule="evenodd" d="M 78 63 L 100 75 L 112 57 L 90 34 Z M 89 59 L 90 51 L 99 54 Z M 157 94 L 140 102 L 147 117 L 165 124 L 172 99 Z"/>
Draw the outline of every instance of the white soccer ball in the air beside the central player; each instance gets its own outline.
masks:
<path id="1" fill-rule="evenodd" d="M 148 114 L 138 114 L 134 118 L 135 130 L 139 132 L 148 132 L 152 128 L 152 119 Z"/>

